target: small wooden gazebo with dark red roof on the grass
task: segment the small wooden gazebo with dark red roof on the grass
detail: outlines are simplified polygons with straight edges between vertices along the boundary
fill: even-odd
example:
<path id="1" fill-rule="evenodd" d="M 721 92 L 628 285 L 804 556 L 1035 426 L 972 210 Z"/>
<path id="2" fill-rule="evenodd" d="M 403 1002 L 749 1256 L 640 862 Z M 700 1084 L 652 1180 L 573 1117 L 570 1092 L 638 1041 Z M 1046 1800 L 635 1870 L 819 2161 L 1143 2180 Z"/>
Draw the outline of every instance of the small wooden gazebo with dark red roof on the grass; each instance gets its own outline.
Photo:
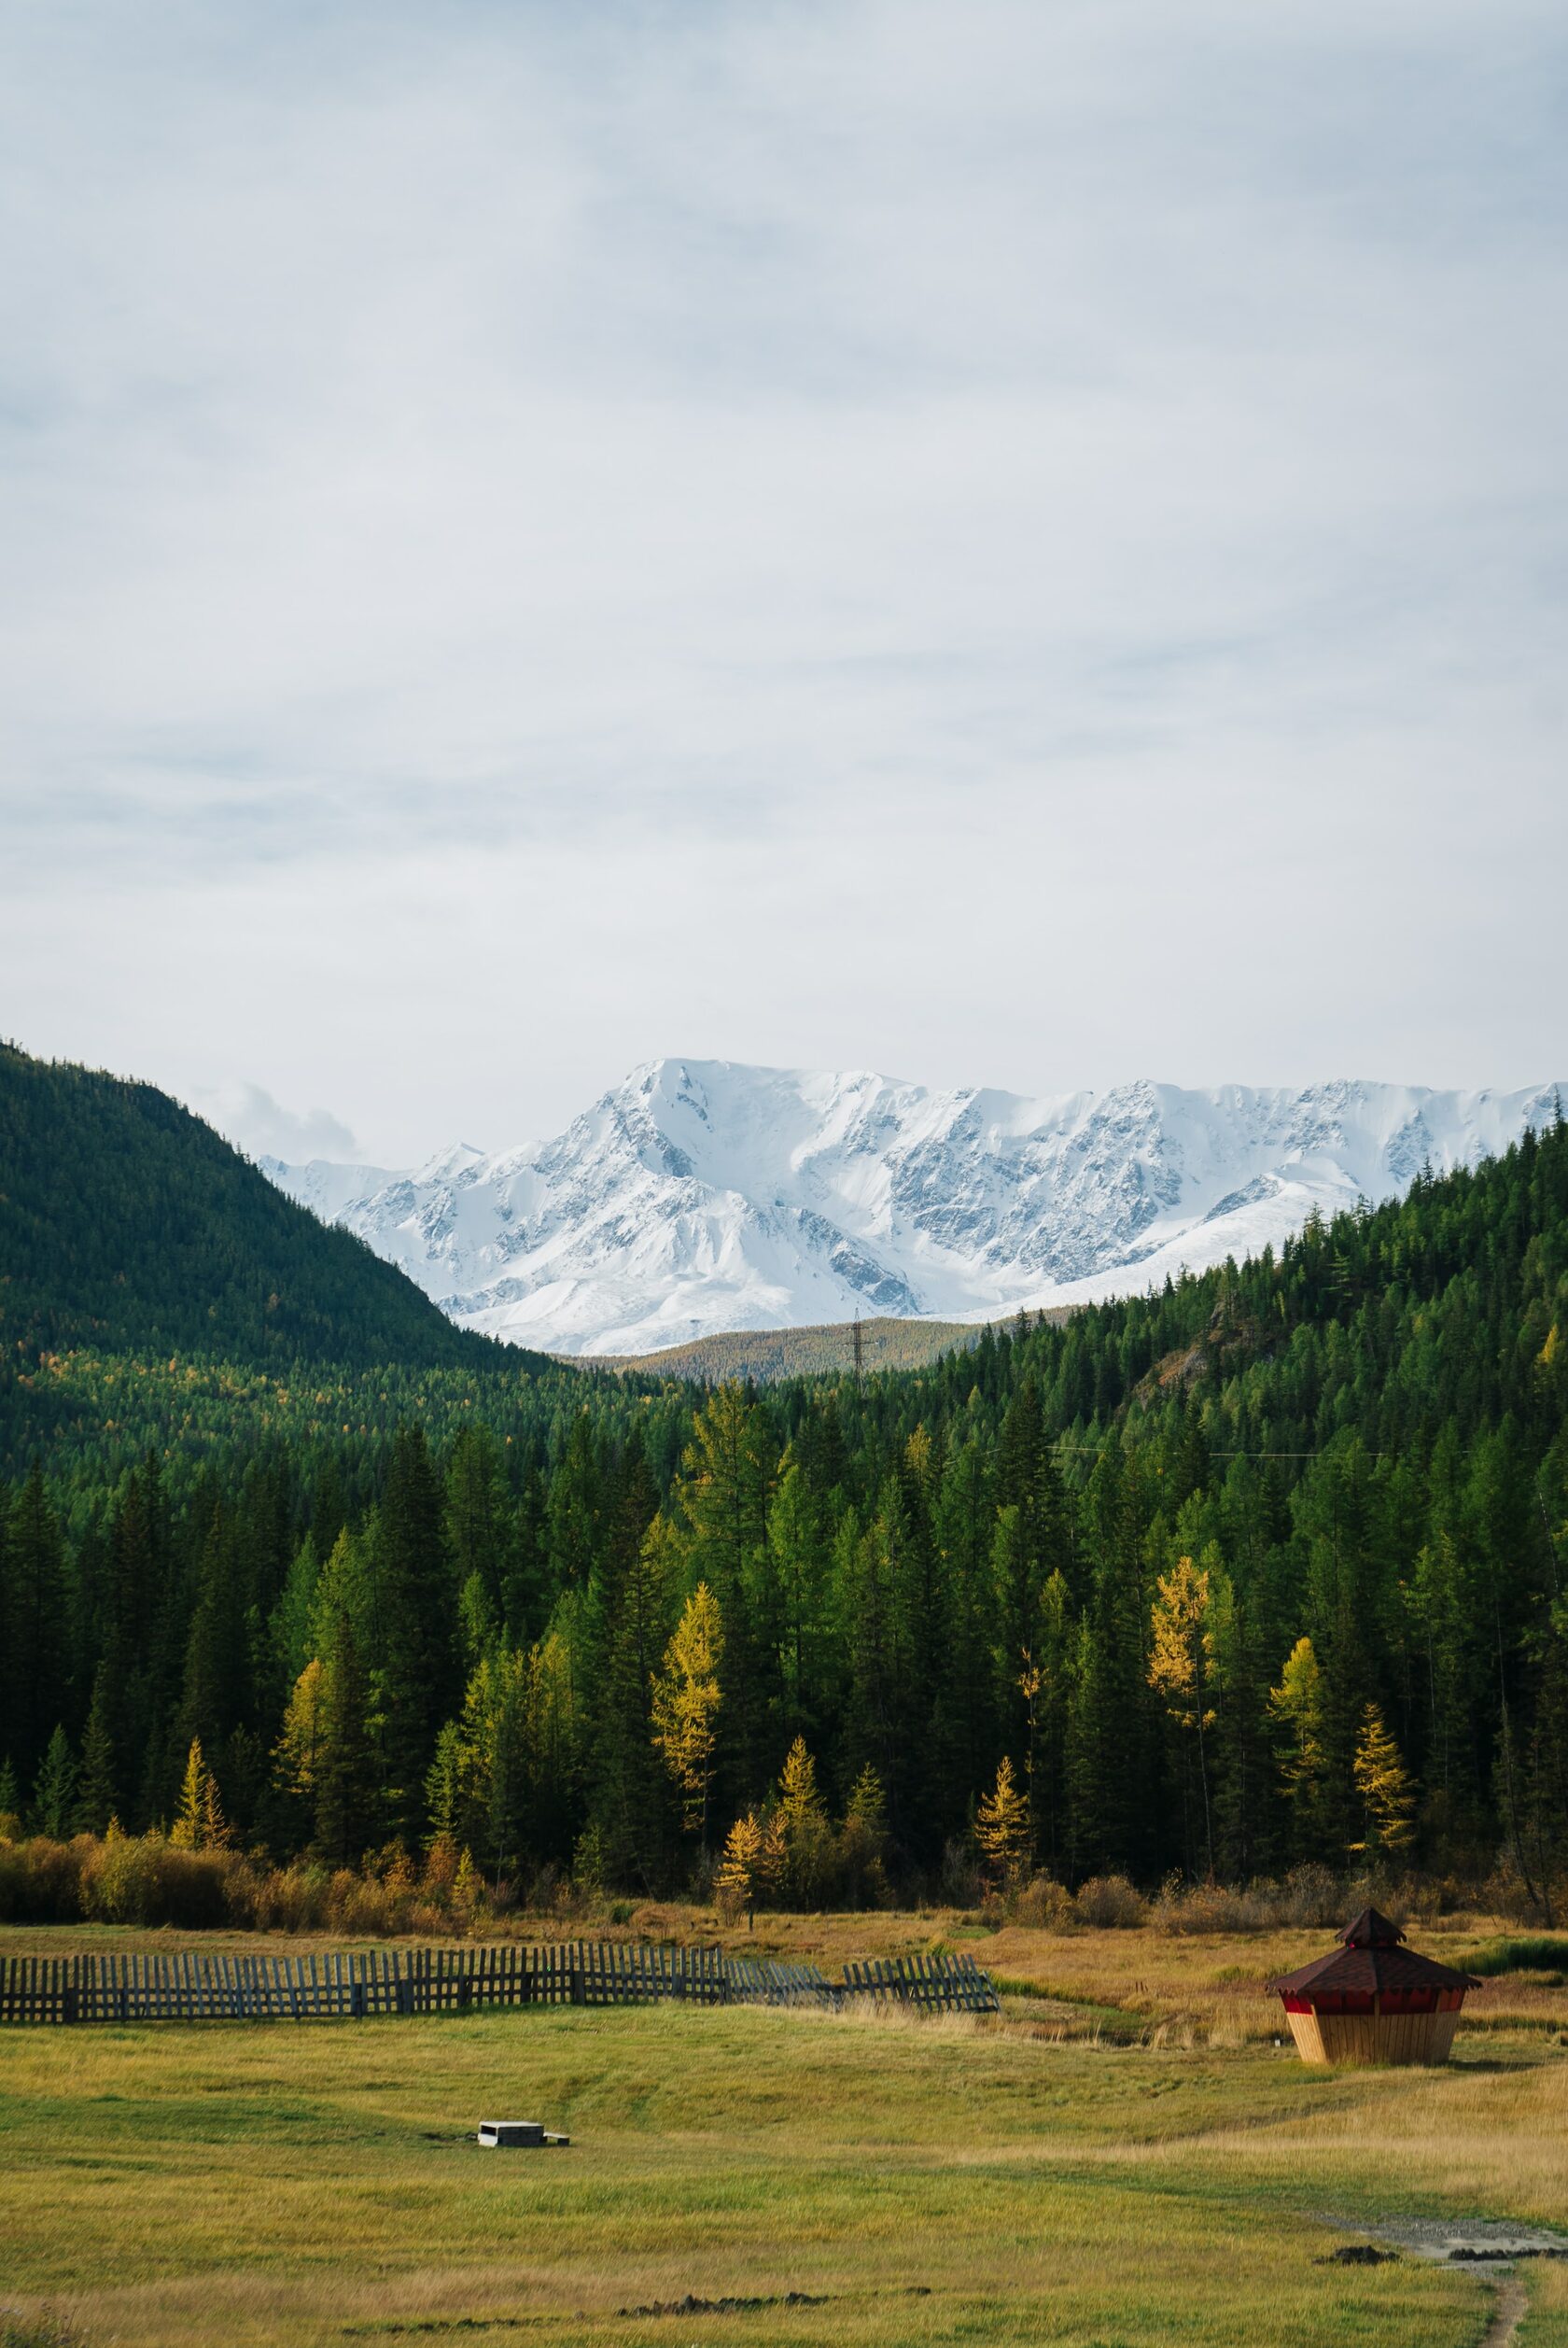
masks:
<path id="1" fill-rule="evenodd" d="M 1465 1991 L 1481 1984 L 1401 1942 L 1397 1923 L 1361 1909 L 1329 1956 L 1270 1984 L 1284 1998 L 1303 2062 L 1448 2062 Z"/>

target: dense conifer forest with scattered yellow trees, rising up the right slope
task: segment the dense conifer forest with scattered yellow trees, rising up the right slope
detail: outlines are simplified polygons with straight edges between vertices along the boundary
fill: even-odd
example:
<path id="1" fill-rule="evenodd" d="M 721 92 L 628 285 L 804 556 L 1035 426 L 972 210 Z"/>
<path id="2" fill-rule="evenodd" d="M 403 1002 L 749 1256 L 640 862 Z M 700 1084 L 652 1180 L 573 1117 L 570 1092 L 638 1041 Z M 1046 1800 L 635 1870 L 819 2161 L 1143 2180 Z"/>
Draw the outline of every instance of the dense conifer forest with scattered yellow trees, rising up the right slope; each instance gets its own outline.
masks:
<path id="1" fill-rule="evenodd" d="M 859 1390 L 92 1376 L 5 1512 L 35 1824 L 171 1817 L 197 1738 L 275 1855 L 671 1885 L 739 1817 L 812 1897 L 800 1740 L 906 1883 L 976 1820 L 1063 1878 L 1568 1864 L 1561 1118 Z"/>

